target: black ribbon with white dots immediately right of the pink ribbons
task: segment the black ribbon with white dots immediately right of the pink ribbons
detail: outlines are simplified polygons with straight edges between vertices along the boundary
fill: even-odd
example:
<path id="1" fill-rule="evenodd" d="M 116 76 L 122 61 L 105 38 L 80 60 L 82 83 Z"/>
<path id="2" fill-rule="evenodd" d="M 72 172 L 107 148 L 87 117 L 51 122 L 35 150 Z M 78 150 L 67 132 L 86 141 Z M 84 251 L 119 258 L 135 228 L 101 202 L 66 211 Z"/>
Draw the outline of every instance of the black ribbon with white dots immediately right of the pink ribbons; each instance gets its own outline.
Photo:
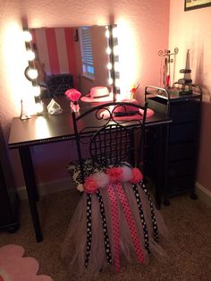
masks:
<path id="1" fill-rule="evenodd" d="M 132 184 L 132 190 L 134 192 L 134 195 L 136 197 L 136 202 L 139 208 L 139 217 L 140 217 L 140 221 L 143 227 L 143 233 L 144 233 L 144 246 L 145 249 L 149 251 L 149 240 L 148 240 L 148 227 L 145 221 L 145 217 L 144 217 L 144 213 L 143 213 L 143 209 L 142 209 L 142 204 L 141 204 L 141 200 L 139 197 L 139 192 L 138 192 L 138 188 L 136 184 Z"/>

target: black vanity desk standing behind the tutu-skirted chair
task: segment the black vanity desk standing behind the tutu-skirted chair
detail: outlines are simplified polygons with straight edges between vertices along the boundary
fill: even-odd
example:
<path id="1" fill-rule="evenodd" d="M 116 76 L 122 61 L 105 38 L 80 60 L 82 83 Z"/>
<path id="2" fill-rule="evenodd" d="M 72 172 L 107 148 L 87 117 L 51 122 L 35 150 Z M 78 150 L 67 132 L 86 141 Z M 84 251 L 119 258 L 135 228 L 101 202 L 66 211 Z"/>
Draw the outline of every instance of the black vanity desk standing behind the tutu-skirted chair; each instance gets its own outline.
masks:
<path id="1" fill-rule="evenodd" d="M 87 120 L 87 122 L 89 123 L 89 120 Z M 146 127 L 159 126 L 162 134 L 163 128 L 170 122 L 171 120 L 166 115 L 155 112 L 153 116 L 147 119 Z M 164 140 L 162 136 L 160 136 L 160 138 Z M 63 110 L 61 115 L 32 115 L 31 118 L 27 120 L 21 120 L 19 117 L 13 118 L 9 137 L 9 148 L 19 149 L 21 167 L 28 193 L 30 212 L 37 242 L 41 242 L 43 237 L 39 224 L 37 209 L 38 192 L 30 148 L 39 144 L 67 140 L 74 140 L 70 109 Z M 158 175 L 160 175 L 160 173 L 158 173 Z M 161 200 L 161 179 L 158 182 L 156 187 L 156 202 L 159 206 Z"/>

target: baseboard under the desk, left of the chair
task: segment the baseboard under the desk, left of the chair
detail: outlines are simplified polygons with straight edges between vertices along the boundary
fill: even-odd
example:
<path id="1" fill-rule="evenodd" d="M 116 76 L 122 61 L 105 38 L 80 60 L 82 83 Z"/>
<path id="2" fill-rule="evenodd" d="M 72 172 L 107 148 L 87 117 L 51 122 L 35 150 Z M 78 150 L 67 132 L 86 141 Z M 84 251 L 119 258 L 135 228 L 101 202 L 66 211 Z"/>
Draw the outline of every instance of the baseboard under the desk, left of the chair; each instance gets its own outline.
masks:
<path id="1" fill-rule="evenodd" d="M 39 196 L 46 196 L 47 194 L 64 192 L 74 188 L 71 178 L 64 178 L 59 181 L 40 183 L 38 184 L 38 194 Z M 21 200 L 27 200 L 28 195 L 25 186 L 21 186 L 17 189 L 19 197 Z"/>

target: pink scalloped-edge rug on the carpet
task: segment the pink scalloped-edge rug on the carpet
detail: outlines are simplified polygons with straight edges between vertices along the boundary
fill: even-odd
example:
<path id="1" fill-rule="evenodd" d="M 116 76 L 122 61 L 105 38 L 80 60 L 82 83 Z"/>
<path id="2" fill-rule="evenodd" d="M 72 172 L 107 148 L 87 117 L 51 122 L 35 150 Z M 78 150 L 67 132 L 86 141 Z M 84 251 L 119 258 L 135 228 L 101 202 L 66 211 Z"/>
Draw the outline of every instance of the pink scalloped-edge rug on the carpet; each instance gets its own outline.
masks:
<path id="1" fill-rule="evenodd" d="M 23 254 L 24 249 L 19 245 L 0 248 L 0 281 L 53 281 L 46 275 L 37 275 L 38 261 Z"/>

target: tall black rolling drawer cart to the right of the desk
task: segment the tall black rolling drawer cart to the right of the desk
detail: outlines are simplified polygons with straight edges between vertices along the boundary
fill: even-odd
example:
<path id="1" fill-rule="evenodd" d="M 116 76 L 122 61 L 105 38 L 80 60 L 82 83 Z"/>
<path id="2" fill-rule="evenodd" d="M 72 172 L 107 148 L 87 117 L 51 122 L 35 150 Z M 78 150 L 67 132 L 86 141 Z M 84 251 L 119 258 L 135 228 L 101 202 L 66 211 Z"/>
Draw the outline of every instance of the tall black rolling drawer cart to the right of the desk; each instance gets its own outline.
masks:
<path id="1" fill-rule="evenodd" d="M 167 145 L 165 148 L 165 203 L 168 198 L 181 193 L 194 193 L 195 177 L 198 162 L 198 141 L 200 129 L 200 112 L 202 92 L 198 86 L 192 85 L 192 93 L 179 93 L 175 89 L 162 89 L 148 86 L 145 89 L 148 107 L 167 115 L 173 120 L 167 126 Z M 154 179 L 156 175 L 156 130 L 148 130 L 149 146 L 146 170 Z"/>

